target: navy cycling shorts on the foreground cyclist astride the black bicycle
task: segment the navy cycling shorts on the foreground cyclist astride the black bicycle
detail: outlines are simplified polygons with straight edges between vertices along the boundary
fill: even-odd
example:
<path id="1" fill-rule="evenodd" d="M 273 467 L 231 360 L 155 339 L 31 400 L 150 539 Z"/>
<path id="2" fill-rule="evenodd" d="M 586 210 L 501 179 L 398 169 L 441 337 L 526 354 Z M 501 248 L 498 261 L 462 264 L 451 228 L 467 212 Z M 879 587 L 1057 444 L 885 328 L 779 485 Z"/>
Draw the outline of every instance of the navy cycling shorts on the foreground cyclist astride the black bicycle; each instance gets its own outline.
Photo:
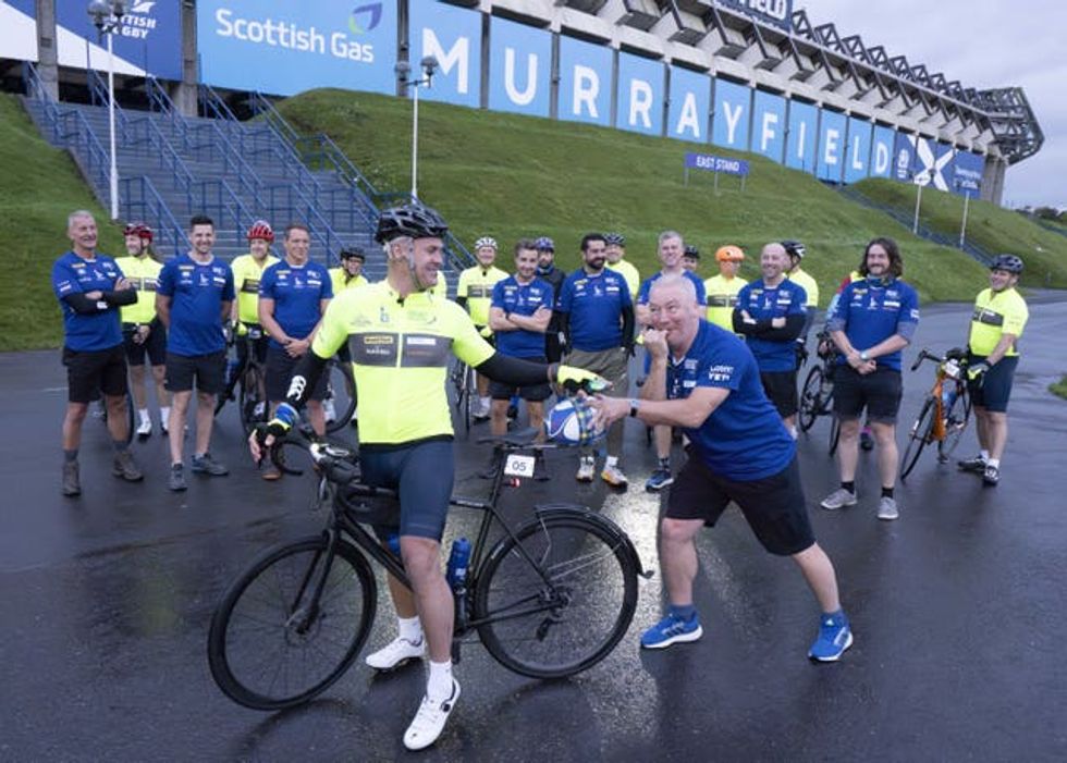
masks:
<path id="1" fill-rule="evenodd" d="M 375 525 L 379 538 L 398 532 L 441 541 L 455 483 L 451 439 L 398 447 L 365 445 L 359 452 L 359 464 L 366 484 L 400 494 L 400 525 Z"/>

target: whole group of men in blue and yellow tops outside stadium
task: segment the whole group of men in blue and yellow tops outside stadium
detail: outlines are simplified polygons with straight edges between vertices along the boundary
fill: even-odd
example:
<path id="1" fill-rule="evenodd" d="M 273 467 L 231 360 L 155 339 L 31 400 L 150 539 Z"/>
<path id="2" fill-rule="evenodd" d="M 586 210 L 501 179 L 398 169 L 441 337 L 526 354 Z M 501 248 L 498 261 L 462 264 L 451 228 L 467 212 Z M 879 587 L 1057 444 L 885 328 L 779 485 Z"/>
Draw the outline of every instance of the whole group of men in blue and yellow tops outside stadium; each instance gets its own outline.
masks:
<path id="1" fill-rule="evenodd" d="M 673 485 L 660 545 L 670 606 L 643 631 L 642 647 L 700 638 L 692 601 L 694 539 L 734 502 L 769 553 L 796 562 L 818 601 L 819 628 L 808 656 L 838 660 L 851 645 L 853 632 L 833 564 L 815 542 L 797 466 L 796 373 L 818 305 L 818 286 L 801 268 L 805 247 L 796 241 L 769 243 L 760 253 L 760 278 L 749 283 L 738 273 L 744 250 L 722 246 L 715 253 L 719 274 L 702 280 L 699 250 L 686 246 L 679 233 L 665 231 L 658 238 L 660 268 L 641 280 L 626 260 L 626 241 L 618 233 L 585 235 L 579 267 L 569 273 L 556 266 L 551 238 L 517 242 L 508 272 L 498 267 L 498 243 L 487 236 L 476 242 L 477 263 L 459 274 L 453 301 L 441 272 L 446 232 L 444 220 L 417 201 L 383 210 L 376 241 L 387 276 L 368 283 L 363 266 L 368 256 L 381 255 L 345 250 L 340 267 L 328 271 L 309 257 L 309 232 L 298 223 L 285 229 L 282 256 L 275 257 L 273 230 L 257 221 L 247 232 L 248 255 L 230 264 L 212 254 L 214 226 L 206 217 L 191 221 L 189 251 L 165 262 L 151 248 L 150 229 L 135 223 L 125 230 L 128 256 L 112 260 L 96 250 L 91 214 L 73 212 L 68 221 L 72 248 L 56 262 L 52 279 L 63 310 L 69 380 L 63 493 L 81 492 L 81 424 L 98 394 L 109 411 L 114 475 L 143 479 L 121 414 L 127 365 L 139 367 L 130 371 L 130 380 L 142 436 L 152 431 L 144 389 L 146 360 L 151 366 L 160 429 L 170 439 L 168 484 L 184 490 L 184 430 L 193 390 L 198 408 L 192 470 L 228 473 L 209 451 L 228 331 L 261 337 L 243 350 L 256 353 L 268 369 L 269 423 L 249 438 L 257 460 L 272 439 L 297 423 L 304 408 L 322 432 L 323 371 L 330 358 L 343 353 L 361 402 L 361 480 L 400 496 L 398 526 L 375 530 L 383 543 L 398 537 L 412 583 L 408 590 L 390 578 L 397 633 L 366 662 L 393 669 L 427 659 L 426 691 L 404 735 L 409 749 L 425 748 L 439 737 L 459 696 L 450 651 L 453 603 L 440 561 L 454 482 L 445 381 L 455 356 L 477 372 L 475 413 L 491 419 L 498 434 L 506 431 L 507 408 L 516 396 L 538 426 L 544 401 L 554 392 L 584 390 L 578 394 L 590 426 L 603 428 L 605 438 L 599 448 L 580 450 L 580 482 L 594 479 L 603 458 L 601 479 L 625 488 L 623 419 L 652 429 L 658 462 L 645 487 Z M 1018 257 L 998 257 L 971 321 L 968 373 L 982 450 L 960 468 L 980 471 L 990 484 L 999 478 L 1007 398 L 1027 320 L 1015 288 L 1021 271 Z M 858 502 L 856 454 L 866 411 L 878 443 L 878 516 L 899 516 L 893 487 L 900 350 L 919 320 L 918 297 L 903 272 L 896 243 L 875 238 L 827 309 L 834 346 L 820 352 L 841 358 L 834 409 L 842 439 L 841 487 L 822 501 L 826 509 Z M 630 397 L 630 357 L 641 347 L 639 392 Z M 687 442 L 677 470 L 671 463 L 676 430 Z M 263 476 L 277 479 L 280 473 L 268 468 Z M 540 457 L 535 476 L 547 476 Z"/>

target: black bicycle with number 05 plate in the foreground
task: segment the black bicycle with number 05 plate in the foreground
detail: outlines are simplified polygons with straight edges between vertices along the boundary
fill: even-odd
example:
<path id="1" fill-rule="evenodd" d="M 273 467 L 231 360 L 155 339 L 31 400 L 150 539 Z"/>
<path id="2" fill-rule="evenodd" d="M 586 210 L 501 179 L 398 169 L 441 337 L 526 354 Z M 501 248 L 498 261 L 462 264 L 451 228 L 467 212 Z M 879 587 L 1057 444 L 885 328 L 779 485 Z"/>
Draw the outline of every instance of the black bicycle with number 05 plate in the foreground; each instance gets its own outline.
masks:
<path id="1" fill-rule="evenodd" d="M 352 665 L 378 605 L 371 562 L 409 587 L 400 556 L 364 527 L 395 524 L 395 493 L 359 482 L 352 447 L 319 440 L 307 427 L 286 442 L 306 450 L 321 475 L 320 495 L 332 506 L 327 526 L 259 556 L 223 595 L 208 636 L 219 688 L 255 710 L 307 702 Z M 482 512 L 469 574 L 453 586 L 453 656 L 458 661 L 462 640 L 476 632 L 515 673 L 571 676 L 615 648 L 634 617 L 637 578 L 651 573 L 622 529 L 581 506 L 535 506 L 528 521 L 508 525 L 496 509 L 501 490 L 532 476 L 534 456 L 519 451 L 539 446 L 494 442 L 499 460 L 488 501 L 451 502 Z M 280 464 L 277 455 L 272 448 Z M 494 526 L 500 532 L 490 544 Z"/>

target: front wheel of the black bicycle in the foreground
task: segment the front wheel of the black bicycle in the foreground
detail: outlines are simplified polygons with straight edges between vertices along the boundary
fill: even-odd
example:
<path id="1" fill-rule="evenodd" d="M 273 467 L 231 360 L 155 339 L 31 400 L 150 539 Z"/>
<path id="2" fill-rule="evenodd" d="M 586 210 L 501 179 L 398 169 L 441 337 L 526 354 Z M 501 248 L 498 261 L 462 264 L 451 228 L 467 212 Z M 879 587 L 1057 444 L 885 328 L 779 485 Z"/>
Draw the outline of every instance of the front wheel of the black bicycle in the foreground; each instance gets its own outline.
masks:
<path id="1" fill-rule="evenodd" d="M 307 702 L 336 681 L 375 619 L 378 589 L 366 558 L 324 536 L 268 551 L 211 618 L 208 663 L 219 688 L 253 710 Z"/>

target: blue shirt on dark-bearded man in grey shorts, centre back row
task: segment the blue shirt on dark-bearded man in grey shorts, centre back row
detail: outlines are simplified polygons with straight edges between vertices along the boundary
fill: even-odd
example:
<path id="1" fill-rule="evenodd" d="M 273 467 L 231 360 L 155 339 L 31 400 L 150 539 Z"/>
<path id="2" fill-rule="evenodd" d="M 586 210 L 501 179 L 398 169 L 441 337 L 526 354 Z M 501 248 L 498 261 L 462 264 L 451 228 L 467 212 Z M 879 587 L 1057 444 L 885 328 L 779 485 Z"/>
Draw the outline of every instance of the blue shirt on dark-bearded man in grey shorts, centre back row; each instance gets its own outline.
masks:
<path id="1" fill-rule="evenodd" d="M 556 309 L 571 316 L 572 346 L 598 353 L 623 346 L 623 308 L 633 304 L 622 274 L 604 268 L 590 275 L 579 268 L 563 282 Z"/>

